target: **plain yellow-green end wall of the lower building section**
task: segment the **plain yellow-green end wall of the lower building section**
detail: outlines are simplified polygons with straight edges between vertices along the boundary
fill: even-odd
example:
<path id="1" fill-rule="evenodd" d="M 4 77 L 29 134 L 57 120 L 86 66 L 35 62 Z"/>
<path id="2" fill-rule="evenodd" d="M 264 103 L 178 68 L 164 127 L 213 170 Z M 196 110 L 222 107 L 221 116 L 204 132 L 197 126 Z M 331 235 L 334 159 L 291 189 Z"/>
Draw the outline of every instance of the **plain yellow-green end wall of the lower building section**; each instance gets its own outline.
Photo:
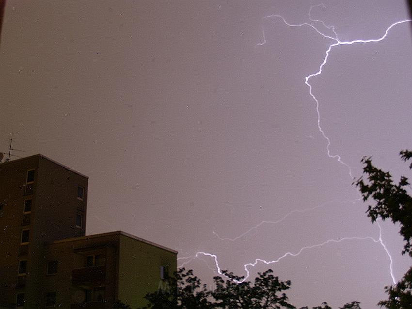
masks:
<path id="1" fill-rule="evenodd" d="M 159 284 L 160 266 L 169 276 L 177 269 L 177 253 L 121 235 L 119 250 L 118 299 L 131 308 L 146 305 L 144 295 L 155 292 Z"/>

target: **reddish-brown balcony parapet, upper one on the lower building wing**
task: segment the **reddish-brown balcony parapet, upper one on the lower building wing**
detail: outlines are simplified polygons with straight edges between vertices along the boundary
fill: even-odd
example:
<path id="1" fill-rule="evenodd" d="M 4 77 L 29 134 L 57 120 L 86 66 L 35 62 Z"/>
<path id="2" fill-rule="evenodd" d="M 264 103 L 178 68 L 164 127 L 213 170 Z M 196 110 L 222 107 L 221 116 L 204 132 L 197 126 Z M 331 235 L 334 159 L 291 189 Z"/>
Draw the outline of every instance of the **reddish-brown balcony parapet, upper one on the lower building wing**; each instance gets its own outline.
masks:
<path id="1" fill-rule="evenodd" d="M 106 285 L 106 266 L 105 265 L 91 266 L 91 267 L 73 269 L 72 270 L 72 285 L 78 286 L 78 287 L 105 286 Z M 89 307 L 84 307 L 84 308 L 89 308 Z M 90 307 L 90 308 L 95 308 L 95 307 Z"/>

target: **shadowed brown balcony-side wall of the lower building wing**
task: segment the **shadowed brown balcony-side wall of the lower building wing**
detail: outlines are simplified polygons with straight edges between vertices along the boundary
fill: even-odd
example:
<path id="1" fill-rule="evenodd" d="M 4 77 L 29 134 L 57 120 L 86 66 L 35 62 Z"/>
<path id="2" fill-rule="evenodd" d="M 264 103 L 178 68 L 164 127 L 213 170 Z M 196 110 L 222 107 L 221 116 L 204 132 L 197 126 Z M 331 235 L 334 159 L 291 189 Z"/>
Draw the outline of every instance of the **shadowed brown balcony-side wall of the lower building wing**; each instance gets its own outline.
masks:
<path id="1" fill-rule="evenodd" d="M 87 308 L 111 309 L 115 302 L 118 247 L 117 234 L 85 236 L 46 245 L 42 263 L 42 294 L 56 292 L 57 308 L 76 309 L 83 308 L 85 290 L 104 287 L 105 303 L 91 304 L 92 307 Z M 95 254 L 105 256 L 105 265 L 86 267 L 87 256 Z M 58 261 L 57 274 L 47 275 L 47 263 L 53 260 Z M 95 272 L 100 268 L 104 268 L 103 282 L 96 280 Z"/>

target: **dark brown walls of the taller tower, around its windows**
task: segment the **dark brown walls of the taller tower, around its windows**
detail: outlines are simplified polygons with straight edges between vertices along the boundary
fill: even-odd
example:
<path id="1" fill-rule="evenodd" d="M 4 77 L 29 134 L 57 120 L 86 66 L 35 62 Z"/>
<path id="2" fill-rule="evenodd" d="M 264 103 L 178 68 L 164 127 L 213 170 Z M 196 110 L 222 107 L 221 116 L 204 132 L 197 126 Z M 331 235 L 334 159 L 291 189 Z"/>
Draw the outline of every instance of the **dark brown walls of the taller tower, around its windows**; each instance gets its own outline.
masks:
<path id="1" fill-rule="evenodd" d="M 34 182 L 26 185 L 27 171 L 34 169 Z M 25 308 L 36 308 L 41 294 L 43 244 L 85 234 L 87 177 L 48 158 L 35 155 L 0 164 L 0 305 L 13 305 L 16 293 L 25 293 Z M 84 188 L 83 201 L 77 198 Z M 27 194 L 26 187 L 32 188 Z M 23 223 L 23 207 L 32 199 L 30 224 Z M 82 207 L 82 210 L 78 208 Z M 83 212 L 82 228 L 76 228 L 76 214 Z M 21 253 L 22 229 L 30 229 L 27 253 Z M 27 260 L 25 286 L 16 288 L 18 261 Z"/>

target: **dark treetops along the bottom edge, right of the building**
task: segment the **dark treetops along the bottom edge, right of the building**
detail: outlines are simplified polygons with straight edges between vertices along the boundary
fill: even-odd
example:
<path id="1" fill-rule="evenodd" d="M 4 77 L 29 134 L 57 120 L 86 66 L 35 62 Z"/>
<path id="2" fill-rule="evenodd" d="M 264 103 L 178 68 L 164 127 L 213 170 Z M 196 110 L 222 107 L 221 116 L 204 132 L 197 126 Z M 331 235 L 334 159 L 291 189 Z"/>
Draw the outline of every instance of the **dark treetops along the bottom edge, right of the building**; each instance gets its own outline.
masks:
<path id="1" fill-rule="evenodd" d="M 157 292 L 146 294 L 149 304 L 142 309 L 296 309 L 285 293 L 290 281 L 273 276 L 271 269 L 258 273 L 253 283 L 228 271 L 222 274 L 213 278 L 214 289 L 209 290 L 192 270 L 180 268 L 159 285 Z M 322 303 L 312 309 L 332 308 Z M 358 302 L 352 302 L 340 309 L 361 308 Z"/>

